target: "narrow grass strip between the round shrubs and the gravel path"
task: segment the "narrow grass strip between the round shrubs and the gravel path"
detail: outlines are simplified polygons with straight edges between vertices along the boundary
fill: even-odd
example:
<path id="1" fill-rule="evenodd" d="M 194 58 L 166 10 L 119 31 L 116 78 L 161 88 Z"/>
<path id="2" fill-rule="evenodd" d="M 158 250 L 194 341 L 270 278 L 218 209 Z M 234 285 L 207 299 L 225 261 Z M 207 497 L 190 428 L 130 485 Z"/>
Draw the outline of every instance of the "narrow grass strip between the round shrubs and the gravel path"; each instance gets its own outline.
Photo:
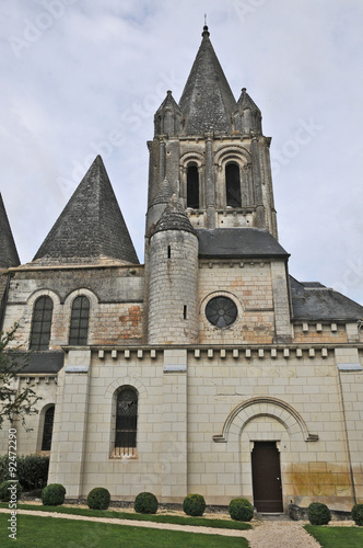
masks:
<path id="1" fill-rule="evenodd" d="M 0 507 L 8 507 L 8 503 L 0 503 Z M 91 517 L 108 517 L 117 520 L 137 520 L 139 522 L 175 523 L 178 525 L 194 525 L 214 527 L 223 529 L 250 529 L 251 526 L 244 522 L 232 522 L 229 520 L 213 520 L 209 517 L 187 517 L 172 514 L 136 514 L 130 512 L 118 512 L 116 510 L 89 510 L 68 506 L 43 506 L 38 504 L 17 504 L 19 510 L 37 510 L 40 512 L 58 512 L 60 514 L 84 515 Z"/>

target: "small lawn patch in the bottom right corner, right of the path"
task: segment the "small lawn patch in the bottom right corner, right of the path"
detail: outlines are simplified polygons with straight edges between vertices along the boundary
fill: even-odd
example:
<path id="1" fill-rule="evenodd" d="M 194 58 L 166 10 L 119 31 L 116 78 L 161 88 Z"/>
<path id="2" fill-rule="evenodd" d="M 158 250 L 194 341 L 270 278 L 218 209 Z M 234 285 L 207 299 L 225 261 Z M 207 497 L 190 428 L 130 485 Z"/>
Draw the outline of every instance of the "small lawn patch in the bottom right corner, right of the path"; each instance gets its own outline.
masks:
<path id="1" fill-rule="evenodd" d="M 305 525 L 323 548 L 360 548 L 363 546 L 363 527 L 335 527 Z"/>

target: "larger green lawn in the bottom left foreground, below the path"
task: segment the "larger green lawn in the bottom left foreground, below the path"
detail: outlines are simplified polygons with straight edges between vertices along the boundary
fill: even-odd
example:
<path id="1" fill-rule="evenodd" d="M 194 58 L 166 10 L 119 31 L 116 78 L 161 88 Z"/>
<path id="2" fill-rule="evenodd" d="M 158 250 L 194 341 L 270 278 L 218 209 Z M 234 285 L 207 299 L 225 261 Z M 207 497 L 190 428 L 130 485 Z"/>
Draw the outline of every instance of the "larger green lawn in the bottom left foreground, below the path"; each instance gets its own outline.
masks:
<path id="1" fill-rule="evenodd" d="M 1 548 L 247 548 L 241 537 L 203 535 L 132 525 L 114 525 L 17 514 L 16 540 L 7 533 L 9 514 L 0 514 Z"/>

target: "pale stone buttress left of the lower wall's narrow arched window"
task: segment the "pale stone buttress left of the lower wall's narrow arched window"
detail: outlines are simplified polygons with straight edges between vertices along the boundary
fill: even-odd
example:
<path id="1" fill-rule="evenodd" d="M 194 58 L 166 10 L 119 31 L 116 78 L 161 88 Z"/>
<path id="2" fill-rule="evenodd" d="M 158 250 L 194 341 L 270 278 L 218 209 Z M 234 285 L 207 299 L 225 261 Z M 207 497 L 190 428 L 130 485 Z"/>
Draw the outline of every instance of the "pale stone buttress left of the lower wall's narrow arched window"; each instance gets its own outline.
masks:
<path id="1" fill-rule="evenodd" d="M 85 494 L 82 481 L 90 368 L 91 350 L 70 351 L 57 397 L 48 483 L 65 486 L 68 499 Z"/>

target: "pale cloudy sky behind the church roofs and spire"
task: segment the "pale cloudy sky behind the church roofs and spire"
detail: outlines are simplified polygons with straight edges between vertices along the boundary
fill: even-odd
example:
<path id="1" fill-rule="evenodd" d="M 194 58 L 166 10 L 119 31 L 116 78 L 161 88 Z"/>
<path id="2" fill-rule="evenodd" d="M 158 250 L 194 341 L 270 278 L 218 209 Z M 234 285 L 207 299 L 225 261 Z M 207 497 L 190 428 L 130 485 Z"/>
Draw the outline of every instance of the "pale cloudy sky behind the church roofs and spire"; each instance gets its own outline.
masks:
<path id="1" fill-rule="evenodd" d="M 272 137 L 290 273 L 363 304 L 361 0 L 0 0 L 2 194 L 32 261 L 99 153 L 143 262 L 153 115 L 210 38 Z"/>

